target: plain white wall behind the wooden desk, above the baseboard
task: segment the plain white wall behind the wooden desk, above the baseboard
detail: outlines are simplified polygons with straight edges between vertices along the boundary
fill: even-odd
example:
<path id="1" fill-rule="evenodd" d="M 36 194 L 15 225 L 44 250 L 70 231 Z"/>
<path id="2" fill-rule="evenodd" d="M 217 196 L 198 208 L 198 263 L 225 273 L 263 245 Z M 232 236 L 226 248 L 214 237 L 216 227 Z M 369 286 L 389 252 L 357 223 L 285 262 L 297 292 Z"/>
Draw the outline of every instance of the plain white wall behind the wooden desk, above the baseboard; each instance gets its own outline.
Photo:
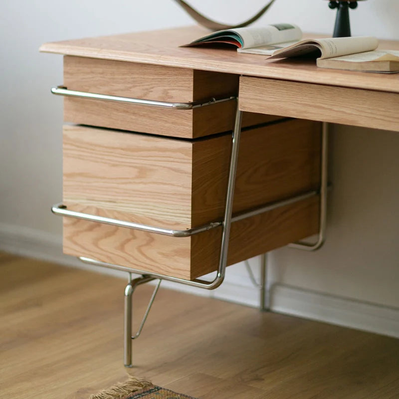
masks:
<path id="1" fill-rule="evenodd" d="M 238 22 L 264 2 L 192 0 L 191 4 L 217 20 Z M 31 245 L 31 253 L 48 256 L 40 253 L 40 243 L 51 243 L 57 252 L 61 251 L 61 220 L 51 215 L 49 207 L 61 200 L 62 101 L 51 96 L 49 88 L 62 83 L 62 57 L 39 54 L 39 45 L 45 41 L 187 25 L 191 19 L 172 0 L 21 3 L 1 3 L 0 247 L 27 253 L 26 248 Z M 351 11 L 352 32 L 399 39 L 398 14 L 397 0 L 362 1 L 357 10 Z M 280 21 L 294 21 L 306 31 L 330 33 L 334 11 L 325 0 L 277 0 L 260 23 Z M 334 190 L 327 242 L 316 253 L 288 248 L 272 252 L 270 274 L 275 282 L 399 307 L 398 154 L 398 134 L 333 128 Z M 37 244 L 36 252 L 32 242 Z M 250 283 L 241 266 L 231 267 L 227 274 L 230 287 L 235 284 L 238 291 L 243 287 L 249 290 Z M 223 291 L 216 295 L 229 297 Z M 287 306 L 281 309 L 295 313 L 295 303 Z M 323 319 L 323 315 L 305 316 Z"/>

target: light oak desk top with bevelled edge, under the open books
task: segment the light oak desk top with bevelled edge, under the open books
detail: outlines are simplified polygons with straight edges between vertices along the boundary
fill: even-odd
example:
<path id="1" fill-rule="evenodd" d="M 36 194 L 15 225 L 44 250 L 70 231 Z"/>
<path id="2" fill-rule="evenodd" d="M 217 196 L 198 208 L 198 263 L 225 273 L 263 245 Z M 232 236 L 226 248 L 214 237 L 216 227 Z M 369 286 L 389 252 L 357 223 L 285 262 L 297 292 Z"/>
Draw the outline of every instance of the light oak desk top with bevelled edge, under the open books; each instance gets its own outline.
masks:
<path id="1" fill-rule="evenodd" d="M 45 43 L 40 51 L 399 93 L 399 74 L 318 68 L 314 60 L 267 61 L 232 48 L 179 47 L 207 32 L 190 26 L 89 37 Z M 399 41 L 380 41 L 380 48 L 399 50 Z"/>

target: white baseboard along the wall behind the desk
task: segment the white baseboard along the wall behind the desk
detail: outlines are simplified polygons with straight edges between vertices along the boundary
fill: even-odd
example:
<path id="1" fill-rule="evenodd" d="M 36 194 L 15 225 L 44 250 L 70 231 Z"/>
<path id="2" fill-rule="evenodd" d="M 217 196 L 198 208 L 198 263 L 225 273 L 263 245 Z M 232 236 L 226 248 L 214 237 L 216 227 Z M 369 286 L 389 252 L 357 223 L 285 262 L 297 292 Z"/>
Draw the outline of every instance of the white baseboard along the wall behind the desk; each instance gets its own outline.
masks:
<path id="1" fill-rule="evenodd" d="M 0 250 L 2 251 L 114 276 L 126 276 L 126 273 L 84 264 L 72 256 L 62 254 L 61 243 L 60 235 L 0 223 Z M 251 262 L 257 262 L 257 260 L 254 258 Z M 253 287 L 242 265 L 229 267 L 226 274 L 223 284 L 213 291 L 167 281 L 164 281 L 162 286 L 257 307 L 259 291 Z M 271 310 L 399 338 L 399 309 L 373 303 L 274 284 L 271 289 Z"/>

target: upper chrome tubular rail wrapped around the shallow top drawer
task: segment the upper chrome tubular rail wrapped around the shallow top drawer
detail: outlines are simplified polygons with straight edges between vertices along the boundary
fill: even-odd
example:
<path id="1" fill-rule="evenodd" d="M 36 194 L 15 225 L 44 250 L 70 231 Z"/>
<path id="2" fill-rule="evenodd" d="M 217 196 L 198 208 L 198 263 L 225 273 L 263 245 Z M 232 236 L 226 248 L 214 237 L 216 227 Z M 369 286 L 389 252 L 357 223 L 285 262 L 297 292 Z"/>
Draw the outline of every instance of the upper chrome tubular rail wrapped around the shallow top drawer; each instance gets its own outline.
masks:
<path id="1" fill-rule="evenodd" d="M 143 100 L 141 98 L 131 98 L 131 97 L 121 97 L 121 96 L 111 96 L 108 94 L 99 94 L 99 93 L 90 93 L 86 91 L 76 91 L 76 90 L 68 90 L 65 86 L 57 86 L 51 88 L 51 93 L 56 94 L 58 96 L 65 97 L 80 97 L 80 98 L 88 98 L 92 100 L 106 100 L 106 101 L 116 101 L 116 102 L 124 102 L 131 104 L 139 104 L 139 105 L 148 105 L 153 107 L 163 107 L 163 108 L 173 108 L 173 109 L 194 109 L 205 107 L 207 105 L 217 104 L 225 101 L 235 100 L 236 97 L 226 97 L 221 99 L 210 99 L 205 102 L 188 102 L 188 103 L 173 103 L 167 101 L 155 101 L 155 100 Z"/>

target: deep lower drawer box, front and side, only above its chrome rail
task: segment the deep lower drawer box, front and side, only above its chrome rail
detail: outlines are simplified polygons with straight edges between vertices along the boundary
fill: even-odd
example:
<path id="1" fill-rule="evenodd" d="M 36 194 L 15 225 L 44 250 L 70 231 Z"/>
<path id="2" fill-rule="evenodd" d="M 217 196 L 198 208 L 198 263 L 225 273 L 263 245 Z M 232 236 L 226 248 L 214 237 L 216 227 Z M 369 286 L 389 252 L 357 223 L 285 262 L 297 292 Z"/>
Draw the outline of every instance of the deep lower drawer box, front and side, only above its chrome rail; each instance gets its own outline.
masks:
<path id="1" fill-rule="evenodd" d="M 63 201 L 74 210 L 166 228 L 217 221 L 230 149 L 230 135 L 186 141 L 65 125 Z M 317 188 L 319 150 L 317 122 L 243 131 L 233 211 Z"/>

